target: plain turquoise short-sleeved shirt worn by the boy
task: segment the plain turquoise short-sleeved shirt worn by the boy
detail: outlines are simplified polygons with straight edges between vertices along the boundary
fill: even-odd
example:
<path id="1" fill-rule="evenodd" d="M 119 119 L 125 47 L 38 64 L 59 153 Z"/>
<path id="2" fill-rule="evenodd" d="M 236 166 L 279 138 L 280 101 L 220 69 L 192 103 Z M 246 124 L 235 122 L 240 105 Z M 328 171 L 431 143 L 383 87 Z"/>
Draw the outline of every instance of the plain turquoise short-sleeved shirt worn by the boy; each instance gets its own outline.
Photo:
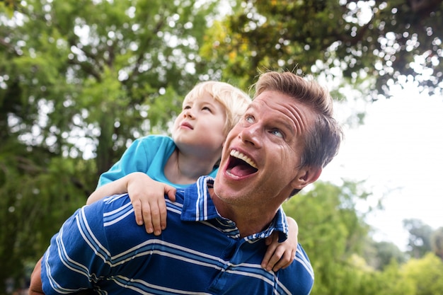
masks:
<path id="1" fill-rule="evenodd" d="M 164 135 L 149 135 L 135 140 L 125 151 L 117 163 L 108 171 L 100 175 L 97 187 L 111 183 L 132 172 L 146 173 L 153 180 L 172 185 L 173 187 L 187 187 L 171 183 L 166 178 L 164 168 L 177 146 L 171 137 Z M 215 177 L 218 168 L 214 168 L 209 176 Z"/>

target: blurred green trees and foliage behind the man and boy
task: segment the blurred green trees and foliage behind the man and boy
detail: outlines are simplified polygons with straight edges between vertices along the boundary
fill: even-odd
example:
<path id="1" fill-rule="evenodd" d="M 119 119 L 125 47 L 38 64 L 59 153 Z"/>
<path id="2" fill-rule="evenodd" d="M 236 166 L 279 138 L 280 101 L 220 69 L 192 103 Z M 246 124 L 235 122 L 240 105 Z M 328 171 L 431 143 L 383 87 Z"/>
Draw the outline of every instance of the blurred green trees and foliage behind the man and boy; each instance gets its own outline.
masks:
<path id="1" fill-rule="evenodd" d="M 227 3 L 228 15 L 212 0 L 0 1 L 0 294 L 134 138 L 168 132 L 197 81 L 247 90 L 257 70 L 291 69 L 385 95 L 403 75 L 422 91 L 442 86 L 441 0 Z M 439 294 L 422 286 L 424 274 L 442 281 L 428 248 L 402 265 L 368 237 L 355 209 L 367 196 L 359 183 L 318 183 L 284 205 L 316 271 L 313 294 Z"/>

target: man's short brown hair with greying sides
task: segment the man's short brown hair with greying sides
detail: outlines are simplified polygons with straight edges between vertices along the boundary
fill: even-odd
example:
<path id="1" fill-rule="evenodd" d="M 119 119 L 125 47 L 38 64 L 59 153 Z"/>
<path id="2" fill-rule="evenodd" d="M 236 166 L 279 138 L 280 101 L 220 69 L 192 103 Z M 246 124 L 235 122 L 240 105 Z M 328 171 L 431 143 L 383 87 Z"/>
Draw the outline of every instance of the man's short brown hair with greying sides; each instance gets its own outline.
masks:
<path id="1" fill-rule="evenodd" d="M 316 113 L 316 121 L 304 137 L 300 166 L 325 167 L 338 154 L 343 139 L 343 131 L 333 118 L 333 100 L 328 90 L 313 79 L 289 71 L 271 71 L 261 74 L 255 83 L 255 96 L 263 91 L 284 93 Z"/>

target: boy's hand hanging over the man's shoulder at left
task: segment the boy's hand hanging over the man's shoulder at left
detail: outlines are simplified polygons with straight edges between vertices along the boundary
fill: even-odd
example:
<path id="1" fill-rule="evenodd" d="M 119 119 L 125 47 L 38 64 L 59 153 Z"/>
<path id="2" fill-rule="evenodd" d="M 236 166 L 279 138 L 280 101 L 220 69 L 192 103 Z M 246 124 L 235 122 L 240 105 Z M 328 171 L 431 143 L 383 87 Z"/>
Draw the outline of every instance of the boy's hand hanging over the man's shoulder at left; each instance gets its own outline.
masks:
<path id="1" fill-rule="evenodd" d="M 152 180 L 144 173 L 132 173 L 127 183 L 127 192 L 134 207 L 137 224 L 144 224 L 146 232 L 159 236 L 166 229 L 165 195 L 175 201 L 176 188 Z"/>

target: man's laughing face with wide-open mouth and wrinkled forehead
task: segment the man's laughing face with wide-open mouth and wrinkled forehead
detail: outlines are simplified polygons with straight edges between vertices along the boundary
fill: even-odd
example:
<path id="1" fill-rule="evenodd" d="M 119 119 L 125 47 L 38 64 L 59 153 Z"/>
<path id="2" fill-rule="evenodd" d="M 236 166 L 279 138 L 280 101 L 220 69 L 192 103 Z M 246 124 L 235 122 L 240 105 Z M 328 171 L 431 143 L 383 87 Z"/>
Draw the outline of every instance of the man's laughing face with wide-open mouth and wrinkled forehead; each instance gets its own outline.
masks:
<path id="1" fill-rule="evenodd" d="M 294 188 L 312 182 L 299 163 L 314 117 L 305 105 L 280 92 L 257 96 L 226 138 L 214 183 L 217 197 L 251 209 L 277 208 Z"/>

